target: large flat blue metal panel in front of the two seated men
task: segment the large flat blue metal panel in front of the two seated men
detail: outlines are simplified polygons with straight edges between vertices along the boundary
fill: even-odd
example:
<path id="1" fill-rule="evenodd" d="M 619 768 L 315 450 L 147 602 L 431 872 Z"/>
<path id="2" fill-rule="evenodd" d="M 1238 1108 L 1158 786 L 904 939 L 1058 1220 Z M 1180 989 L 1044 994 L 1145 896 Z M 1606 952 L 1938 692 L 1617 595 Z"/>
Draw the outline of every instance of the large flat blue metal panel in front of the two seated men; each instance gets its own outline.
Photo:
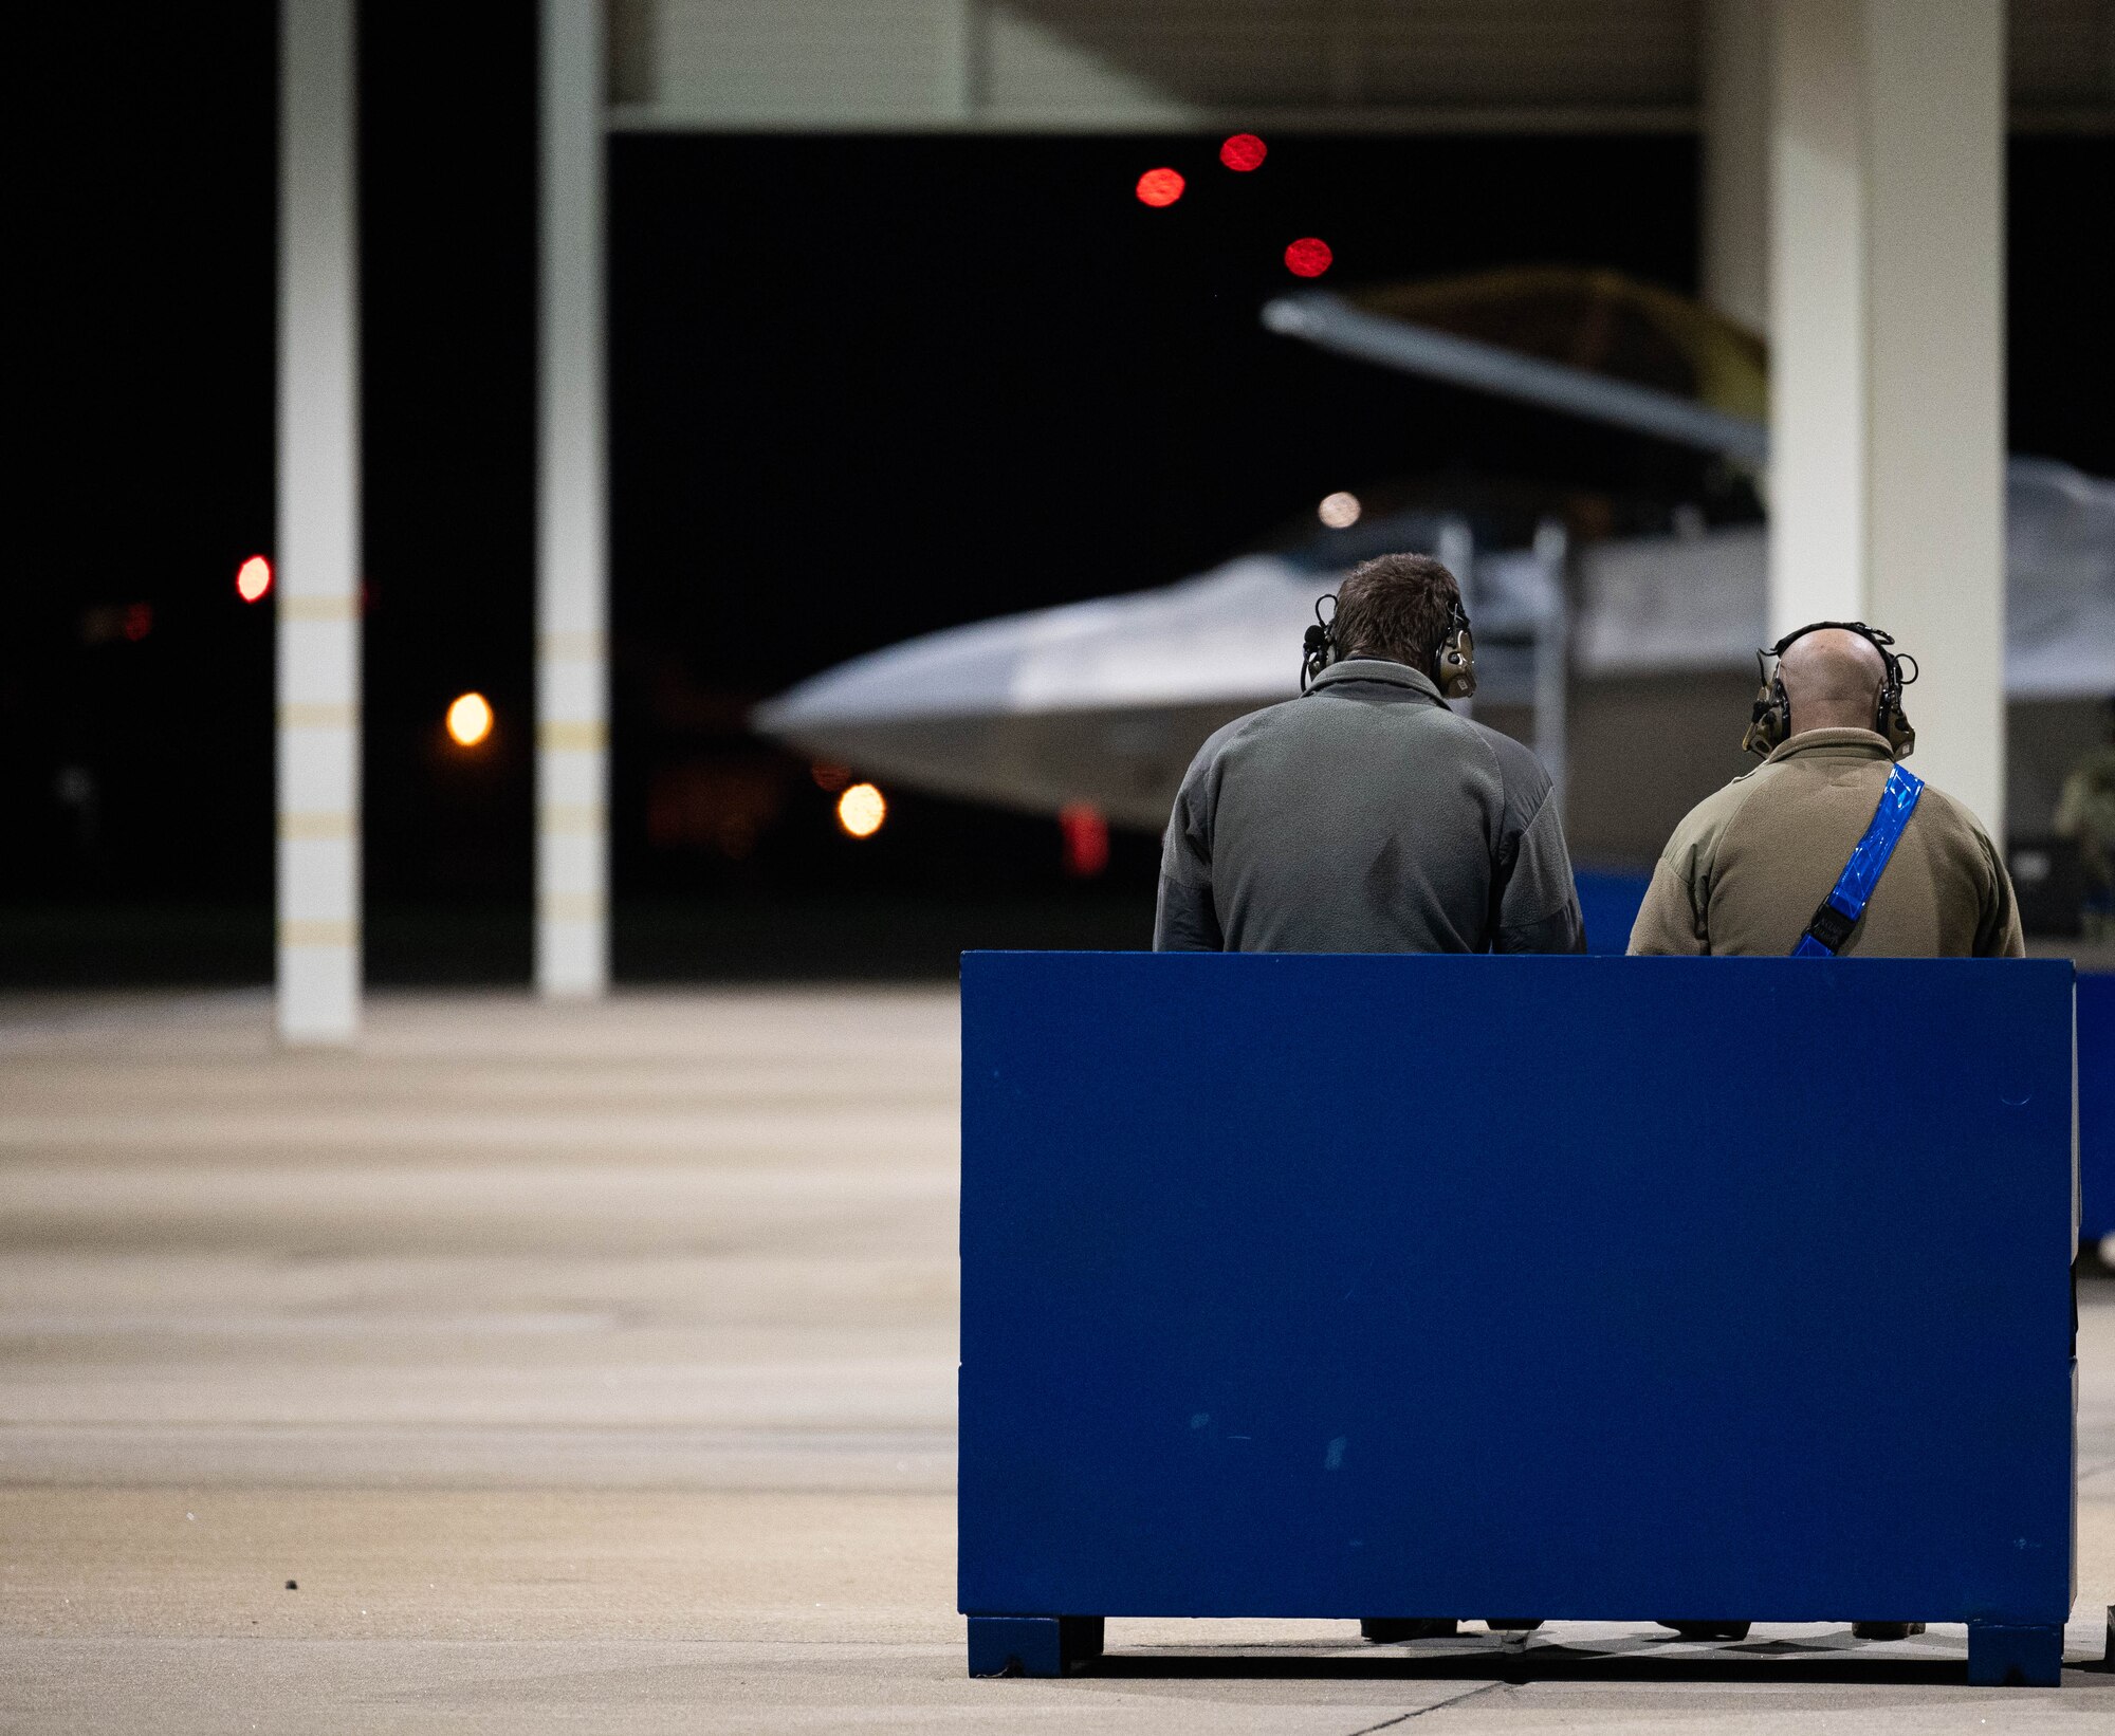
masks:
<path id="1" fill-rule="evenodd" d="M 969 954 L 960 1601 L 2060 1622 L 2071 966 Z"/>

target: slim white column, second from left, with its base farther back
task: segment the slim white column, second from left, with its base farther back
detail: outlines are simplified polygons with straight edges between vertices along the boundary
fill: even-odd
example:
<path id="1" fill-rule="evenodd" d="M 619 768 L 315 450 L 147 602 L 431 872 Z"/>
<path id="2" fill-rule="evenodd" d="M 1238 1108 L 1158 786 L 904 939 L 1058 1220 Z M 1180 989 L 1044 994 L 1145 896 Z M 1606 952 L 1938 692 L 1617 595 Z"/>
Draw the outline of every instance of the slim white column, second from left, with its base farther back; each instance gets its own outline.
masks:
<path id="1" fill-rule="evenodd" d="M 609 983 L 603 6 L 544 0 L 535 979 Z"/>

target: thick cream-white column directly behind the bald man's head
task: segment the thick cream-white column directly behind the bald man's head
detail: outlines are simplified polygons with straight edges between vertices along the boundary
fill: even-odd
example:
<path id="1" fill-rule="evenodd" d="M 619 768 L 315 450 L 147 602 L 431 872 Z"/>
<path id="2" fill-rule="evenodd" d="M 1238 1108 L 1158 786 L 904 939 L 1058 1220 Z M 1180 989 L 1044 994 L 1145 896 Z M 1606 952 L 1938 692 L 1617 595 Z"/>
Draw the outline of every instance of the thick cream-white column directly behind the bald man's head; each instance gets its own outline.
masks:
<path id="1" fill-rule="evenodd" d="M 2001 0 L 1779 0 L 1770 624 L 1923 666 L 1916 770 L 2005 820 Z"/>

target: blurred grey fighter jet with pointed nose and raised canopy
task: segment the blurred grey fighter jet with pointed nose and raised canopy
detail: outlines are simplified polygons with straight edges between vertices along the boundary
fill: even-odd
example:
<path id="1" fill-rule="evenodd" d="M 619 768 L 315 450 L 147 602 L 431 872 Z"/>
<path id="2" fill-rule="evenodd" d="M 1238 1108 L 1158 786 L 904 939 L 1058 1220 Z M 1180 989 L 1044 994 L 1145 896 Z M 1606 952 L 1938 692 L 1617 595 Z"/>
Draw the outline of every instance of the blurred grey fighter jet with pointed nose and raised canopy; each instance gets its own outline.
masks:
<path id="1" fill-rule="evenodd" d="M 1692 448 L 1715 486 L 1768 461 L 1751 334 L 1612 273 L 1491 273 L 1345 300 L 1271 300 L 1288 338 Z M 1502 340 L 1500 340 L 1502 338 Z M 2115 482 L 2011 459 L 2007 691 L 2115 689 Z M 1521 514 L 1512 514 L 1514 520 Z M 1481 539 L 1478 539 L 1481 533 Z M 958 626 L 825 670 L 753 727 L 819 761 L 1038 814 L 1074 804 L 1159 831 L 1197 746 L 1290 698 L 1318 601 L 1368 554 L 1440 554 L 1476 622 L 1478 700 L 1521 706 L 1565 770 L 1565 683 L 1749 668 L 1764 643 L 1764 531 L 1677 514 L 1650 537 L 1569 535 L 1548 516 L 1445 507 L 1364 518 L 1178 584 Z"/>

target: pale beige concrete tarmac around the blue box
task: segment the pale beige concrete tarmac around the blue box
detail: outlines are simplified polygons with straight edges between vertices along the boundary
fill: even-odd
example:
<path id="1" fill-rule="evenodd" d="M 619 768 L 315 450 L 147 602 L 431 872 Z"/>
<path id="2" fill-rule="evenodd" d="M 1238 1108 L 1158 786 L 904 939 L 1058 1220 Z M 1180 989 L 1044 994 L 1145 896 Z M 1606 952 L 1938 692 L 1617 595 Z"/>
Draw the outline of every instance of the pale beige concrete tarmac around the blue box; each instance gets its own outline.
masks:
<path id="1" fill-rule="evenodd" d="M 0 1730 L 2111 1730 L 2115 1294 L 2060 1689 L 1965 1635 L 1112 1622 L 969 1681 L 956 1004 L 0 1002 Z M 2107 1286 L 2115 1292 L 2115 1286 Z"/>

